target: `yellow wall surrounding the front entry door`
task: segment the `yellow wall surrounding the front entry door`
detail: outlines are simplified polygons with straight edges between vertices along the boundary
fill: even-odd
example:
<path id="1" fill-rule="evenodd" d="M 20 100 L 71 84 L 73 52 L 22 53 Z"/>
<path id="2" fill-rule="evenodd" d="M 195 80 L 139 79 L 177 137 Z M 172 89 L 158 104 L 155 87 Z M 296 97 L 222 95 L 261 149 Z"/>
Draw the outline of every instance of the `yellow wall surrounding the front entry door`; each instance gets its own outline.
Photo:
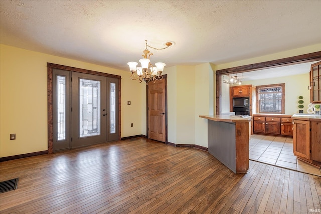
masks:
<path id="1" fill-rule="evenodd" d="M 144 133 L 144 85 L 130 72 L 0 45 L 0 157 L 48 149 L 47 62 L 122 76 L 121 137 Z M 127 105 L 131 101 L 131 105 Z M 144 101 L 145 102 L 145 101 Z M 134 123 L 134 127 L 130 127 Z M 16 140 L 9 140 L 15 133 Z"/>

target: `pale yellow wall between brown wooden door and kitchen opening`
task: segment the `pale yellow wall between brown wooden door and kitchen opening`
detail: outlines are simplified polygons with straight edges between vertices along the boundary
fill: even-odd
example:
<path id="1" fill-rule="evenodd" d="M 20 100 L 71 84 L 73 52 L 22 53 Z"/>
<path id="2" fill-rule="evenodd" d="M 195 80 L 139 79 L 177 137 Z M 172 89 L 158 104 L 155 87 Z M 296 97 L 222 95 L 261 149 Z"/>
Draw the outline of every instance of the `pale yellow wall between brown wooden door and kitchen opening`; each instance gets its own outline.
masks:
<path id="1" fill-rule="evenodd" d="M 207 120 L 213 114 L 214 77 L 209 63 L 173 66 L 167 73 L 168 141 L 207 147 Z"/>

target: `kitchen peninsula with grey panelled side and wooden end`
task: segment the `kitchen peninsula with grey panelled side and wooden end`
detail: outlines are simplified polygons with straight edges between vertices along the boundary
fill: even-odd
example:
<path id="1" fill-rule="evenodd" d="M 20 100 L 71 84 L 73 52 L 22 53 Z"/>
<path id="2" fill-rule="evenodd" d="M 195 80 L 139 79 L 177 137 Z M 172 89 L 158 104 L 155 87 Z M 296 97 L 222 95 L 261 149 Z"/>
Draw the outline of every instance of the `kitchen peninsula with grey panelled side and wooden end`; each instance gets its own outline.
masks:
<path id="1" fill-rule="evenodd" d="M 249 169 L 251 117 L 200 115 L 208 120 L 208 152 L 234 173 Z"/>

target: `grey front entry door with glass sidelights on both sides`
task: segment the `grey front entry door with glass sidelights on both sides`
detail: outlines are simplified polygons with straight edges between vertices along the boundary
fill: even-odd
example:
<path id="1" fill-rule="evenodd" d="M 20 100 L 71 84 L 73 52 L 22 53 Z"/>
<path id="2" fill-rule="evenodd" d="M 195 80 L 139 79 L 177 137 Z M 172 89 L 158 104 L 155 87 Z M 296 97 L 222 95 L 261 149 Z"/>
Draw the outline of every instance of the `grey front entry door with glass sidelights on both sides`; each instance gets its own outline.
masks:
<path id="1" fill-rule="evenodd" d="M 119 139 L 118 78 L 53 69 L 53 150 Z"/>

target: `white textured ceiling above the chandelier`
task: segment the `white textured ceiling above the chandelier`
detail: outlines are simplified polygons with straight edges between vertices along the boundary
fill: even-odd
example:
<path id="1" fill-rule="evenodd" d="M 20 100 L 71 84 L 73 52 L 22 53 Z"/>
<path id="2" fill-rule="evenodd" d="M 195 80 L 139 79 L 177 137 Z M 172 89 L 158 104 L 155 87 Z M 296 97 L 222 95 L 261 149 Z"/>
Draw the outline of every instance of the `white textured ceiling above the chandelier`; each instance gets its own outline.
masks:
<path id="1" fill-rule="evenodd" d="M 321 1 L 0 0 L 0 43 L 128 70 L 222 64 L 321 42 Z"/>

